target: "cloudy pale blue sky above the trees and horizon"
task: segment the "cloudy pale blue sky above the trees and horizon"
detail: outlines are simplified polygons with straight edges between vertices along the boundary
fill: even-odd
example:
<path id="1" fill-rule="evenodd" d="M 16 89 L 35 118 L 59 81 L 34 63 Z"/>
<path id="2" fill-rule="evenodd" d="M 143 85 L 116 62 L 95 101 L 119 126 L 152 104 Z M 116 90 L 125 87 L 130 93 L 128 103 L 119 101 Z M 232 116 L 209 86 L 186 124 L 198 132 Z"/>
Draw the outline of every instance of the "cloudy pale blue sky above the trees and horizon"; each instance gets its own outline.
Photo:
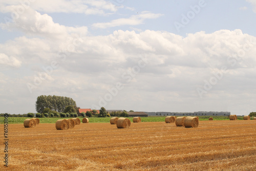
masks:
<path id="1" fill-rule="evenodd" d="M 256 111 L 256 0 L 0 2 L 0 113 Z"/>

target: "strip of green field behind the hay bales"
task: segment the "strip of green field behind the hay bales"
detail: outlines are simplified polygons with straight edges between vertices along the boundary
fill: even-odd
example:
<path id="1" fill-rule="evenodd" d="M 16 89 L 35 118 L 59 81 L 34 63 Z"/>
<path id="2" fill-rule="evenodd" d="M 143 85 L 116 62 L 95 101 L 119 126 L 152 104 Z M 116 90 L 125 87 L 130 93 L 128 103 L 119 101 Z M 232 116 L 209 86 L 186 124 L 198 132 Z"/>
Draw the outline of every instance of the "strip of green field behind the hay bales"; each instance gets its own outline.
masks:
<path id="1" fill-rule="evenodd" d="M 166 116 L 150 116 L 150 117 L 141 117 L 141 122 L 164 122 Z M 178 117 L 178 116 L 177 116 Z M 210 116 L 199 116 L 199 120 L 208 120 Z M 214 118 L 214 120 L 229 120 L 226 116 L 211 116 Z M 25 119 L 28 119 L 29 117 L 9 117 L 8 123 L 23 123 Z M 71 118 L 71 117 L 70 117 Z M 82 117 L 79 117 L 80 120 L 82 120 Z M 105 117 L 105 118 L 98 118 L 98 117 L 91 117 L 89 118 L 89 122 L 92 123 L 106 123 L 110 121 L 111 117 Z M 0 117 L 0 124 L 4 123 L 4 117 Z M 40 123 L 55 123 L 58 119 L 68 119 L 68 118 L 39 118 Z M 131 121 L 133 121 L 133 117 L 129 117 Z M 242 120 L 242 116 L 238 116 L 239 120 Z M 251 118 L 252 119 L 252 118 Z"/>

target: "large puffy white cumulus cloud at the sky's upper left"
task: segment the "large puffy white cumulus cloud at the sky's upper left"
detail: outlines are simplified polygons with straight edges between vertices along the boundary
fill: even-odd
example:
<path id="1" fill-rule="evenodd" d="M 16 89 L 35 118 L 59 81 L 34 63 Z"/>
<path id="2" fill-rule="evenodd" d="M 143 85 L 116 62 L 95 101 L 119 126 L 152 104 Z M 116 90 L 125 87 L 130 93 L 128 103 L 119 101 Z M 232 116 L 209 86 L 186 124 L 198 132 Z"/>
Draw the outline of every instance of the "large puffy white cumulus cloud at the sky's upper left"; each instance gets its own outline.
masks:
<path id="1" fill-rule="evenodd" d="M 22 6 L 8 6 L 5 12 L 17 11 L 19 8 L 22 8 Z M 48 14 L 40 14 L 30 7 L 23 12 L 16 13 L 11 23 L 1 23 L 0 26 L 2 29 L 17 29 L 27 34 L 44 37 L 61 38 L 71 33 L 77 33 L 79 35 L 87 34 L 87 27 L 74 28 L 59 25 L 58 23 L 54 23 L 52 17 Z"/>

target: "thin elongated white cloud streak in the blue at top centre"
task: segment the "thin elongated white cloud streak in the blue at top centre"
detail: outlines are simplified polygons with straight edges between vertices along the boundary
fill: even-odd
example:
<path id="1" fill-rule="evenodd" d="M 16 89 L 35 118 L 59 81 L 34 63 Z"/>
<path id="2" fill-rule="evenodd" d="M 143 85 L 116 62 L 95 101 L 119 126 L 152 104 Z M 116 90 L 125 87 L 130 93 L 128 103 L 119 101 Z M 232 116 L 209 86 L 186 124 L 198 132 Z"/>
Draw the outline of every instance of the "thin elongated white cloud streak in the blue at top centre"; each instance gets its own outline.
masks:
<path id="1" fill-rule="evenodd" d="M 154 19 L 154 18 L 158 18 L 162 15 L 163 14 L 154 14 L 154 13 L 151 13 L 148 11 L 143 11 L 139 14 L 132 15 L 129 18 L 118 18 L 118 19 L 114 19 L 108 23 L 95 23 L 92 26 L 95 28 L 101 28 L 101 29 L 105 29 L 105 28 L 109 28 L 109 27 L 116 27 L 116 26 L 123 26 L 123 25 L 135 26 L 135 25 L 143 24 L 145 19 Z"/>

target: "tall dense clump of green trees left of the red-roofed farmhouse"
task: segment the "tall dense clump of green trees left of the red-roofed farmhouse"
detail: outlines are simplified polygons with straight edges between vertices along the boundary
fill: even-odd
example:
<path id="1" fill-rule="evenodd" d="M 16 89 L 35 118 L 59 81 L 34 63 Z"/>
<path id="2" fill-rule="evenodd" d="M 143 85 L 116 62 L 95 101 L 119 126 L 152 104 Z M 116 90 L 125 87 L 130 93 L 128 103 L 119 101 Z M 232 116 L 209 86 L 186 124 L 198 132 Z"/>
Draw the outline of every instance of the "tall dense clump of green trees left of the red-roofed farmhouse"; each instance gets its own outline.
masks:
<path id="1" fill-rule="evenodd" d="M 68 108 L 69 107 L 69 108 Z M 35 109 L 38 113 L 44 113 L 47 108 L 50 111 L 56 112 L 76 112 L 79 108 L 76 106 L 76 102 L 70 97 L 63 96 L 38 96 L 35 102 Z M 68 108 L 68 109 L 67 109 Z M 49 112 L 49 111 L 48 111 Z"/>

